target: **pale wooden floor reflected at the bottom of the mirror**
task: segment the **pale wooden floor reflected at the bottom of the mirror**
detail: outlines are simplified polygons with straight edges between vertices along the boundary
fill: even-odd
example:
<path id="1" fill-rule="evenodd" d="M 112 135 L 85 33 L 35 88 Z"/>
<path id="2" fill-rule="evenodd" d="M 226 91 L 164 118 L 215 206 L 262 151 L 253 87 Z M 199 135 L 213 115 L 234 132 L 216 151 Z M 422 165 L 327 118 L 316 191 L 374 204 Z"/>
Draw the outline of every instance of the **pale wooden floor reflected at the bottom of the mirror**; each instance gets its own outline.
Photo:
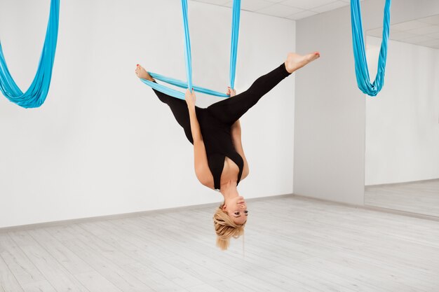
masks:
<path id="1" fill-rule="evenodd" d="M 365 204 L 439 217 L 439 179 L 366 186 Z"/>

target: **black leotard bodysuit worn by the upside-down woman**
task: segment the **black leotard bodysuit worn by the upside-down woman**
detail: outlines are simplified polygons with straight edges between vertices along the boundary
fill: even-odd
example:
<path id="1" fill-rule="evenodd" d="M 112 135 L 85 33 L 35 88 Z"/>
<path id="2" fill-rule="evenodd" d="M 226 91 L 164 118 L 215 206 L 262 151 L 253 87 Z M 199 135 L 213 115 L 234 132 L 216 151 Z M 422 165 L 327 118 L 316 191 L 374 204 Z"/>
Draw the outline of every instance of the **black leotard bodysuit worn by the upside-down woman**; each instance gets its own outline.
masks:
<path id="1" fill-rule="evenodd" d="M 241 181 L 243 174 L 244 161 L 241 155 L 236 152 L 231 140 L 231 125 L 241 118 L 248 109 L 254 106 L 266 92 L 269 92 L 281 82 L 283 78 L 289 75 L 290 73 L 286 70 L 285 64 L 281 64 L 281 66 L 268 74 L 257 78 L 245 92 L 224 99 L 221 102 L 216 102 L 205 109 L 199 108 L 198 106 L 195 107 L 205 151 L 208 156 L 208 165 L 210 172 L 212 172 L 216 190 L 220 188 L 219 182 L 221 180 L 226 156 L 233 160 L 239 167 L 236 186 L 238 186 L 239 181 Z M 187 139 L 191 144 L 194 144 L 186 101 L 170 97 L 157 90 L 154 90 L 154 92 L 156 92 L 161 102 L 168 104 L 171 111 L 173 111 L 175 119 L 183 127 Z"/>

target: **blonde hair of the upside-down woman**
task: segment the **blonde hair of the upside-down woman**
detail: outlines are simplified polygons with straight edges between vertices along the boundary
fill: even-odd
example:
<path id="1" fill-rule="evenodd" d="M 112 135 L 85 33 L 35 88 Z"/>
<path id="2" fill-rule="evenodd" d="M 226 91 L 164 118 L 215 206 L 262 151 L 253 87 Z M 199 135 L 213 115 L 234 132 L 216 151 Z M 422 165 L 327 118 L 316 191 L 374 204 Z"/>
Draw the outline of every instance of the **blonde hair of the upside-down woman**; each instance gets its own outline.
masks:
<path id="1" fill-rule="evenodd" d="M 213 214 L 213 225 L 217 233 L 217 246 L 223 251 L 230 245 L 230 237 L 238 238 L 244 234 L 244 224 L 236 224 L 229 214 L 222 209 L 224 203 L 219 205 Z"/>

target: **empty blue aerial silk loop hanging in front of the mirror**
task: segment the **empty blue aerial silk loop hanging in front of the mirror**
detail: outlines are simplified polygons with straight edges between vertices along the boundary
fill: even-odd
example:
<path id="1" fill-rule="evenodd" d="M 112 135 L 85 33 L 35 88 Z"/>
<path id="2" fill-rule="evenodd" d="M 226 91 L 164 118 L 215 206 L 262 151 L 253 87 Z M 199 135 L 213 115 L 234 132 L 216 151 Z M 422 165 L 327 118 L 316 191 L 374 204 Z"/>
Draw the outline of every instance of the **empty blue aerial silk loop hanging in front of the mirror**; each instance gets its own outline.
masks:
<path id="1" fill-rule="evenodd" d="M 371 97 L 376 96 L 384 85 L 387 40 L 389 39 L 390 5 L 391 0 L 386 0 L 386 5 L 384 6 L 383 39 L 381 41 L 381 49 L 379 50 L 378 71 L 374 83 L 370 83 L 363 39 L 363 25 L 361 24 L 360 0 L 351 0 L 352 45 L 358 88 Z"/>

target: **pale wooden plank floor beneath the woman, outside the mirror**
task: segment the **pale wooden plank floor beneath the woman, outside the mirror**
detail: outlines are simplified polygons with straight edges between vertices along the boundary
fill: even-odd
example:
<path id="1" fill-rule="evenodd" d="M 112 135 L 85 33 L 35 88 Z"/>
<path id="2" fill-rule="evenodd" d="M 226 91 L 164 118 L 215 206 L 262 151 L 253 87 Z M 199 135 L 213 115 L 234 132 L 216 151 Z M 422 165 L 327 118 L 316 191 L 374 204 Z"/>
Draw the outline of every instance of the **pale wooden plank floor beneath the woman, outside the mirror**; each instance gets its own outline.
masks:
<path id="1" fill-rule="evenodd" d="M 217 250 L 212 207 L 0 233 L 0 291 L 438 292 L 439 223 L 299 197 L 248 202 Z"/>

